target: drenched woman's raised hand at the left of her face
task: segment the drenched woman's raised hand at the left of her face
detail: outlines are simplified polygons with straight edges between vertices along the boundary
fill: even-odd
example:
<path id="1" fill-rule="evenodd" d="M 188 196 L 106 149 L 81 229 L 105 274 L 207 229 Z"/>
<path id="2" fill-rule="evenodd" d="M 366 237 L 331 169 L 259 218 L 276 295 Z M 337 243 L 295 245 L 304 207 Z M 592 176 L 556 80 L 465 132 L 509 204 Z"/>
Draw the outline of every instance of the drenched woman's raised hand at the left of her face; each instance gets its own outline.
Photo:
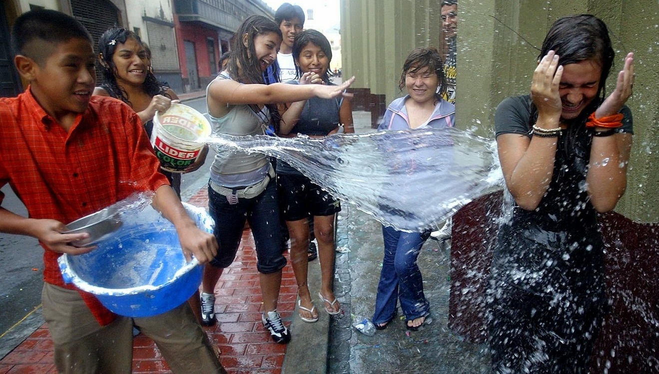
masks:
<path id="1" fill-rule="evenodd" d="M 558 66 L 558 55 L 549 51 L 538 63 L 531 82 L 531 100 L 538 108 L 538 116 L 553 117 L 558 122 L 563 105 L 558 88 L 563 66 Z"/>

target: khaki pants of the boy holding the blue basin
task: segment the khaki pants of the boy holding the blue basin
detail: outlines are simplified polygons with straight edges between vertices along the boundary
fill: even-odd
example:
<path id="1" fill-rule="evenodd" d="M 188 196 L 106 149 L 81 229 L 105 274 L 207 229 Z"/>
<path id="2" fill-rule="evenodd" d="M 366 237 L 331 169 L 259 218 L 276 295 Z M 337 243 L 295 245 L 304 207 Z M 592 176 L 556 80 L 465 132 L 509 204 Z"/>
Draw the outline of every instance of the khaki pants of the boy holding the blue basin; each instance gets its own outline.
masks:
<path id="1" fill-rule="evenodd" d="M 42 304 L 59 373 L 130 373 L 133 323 L 156 342 L 173 373 L 226 373 L 187 302 L 158 316 L 117 317 L 107 326 L 77 291 L 44 283 Z"/>

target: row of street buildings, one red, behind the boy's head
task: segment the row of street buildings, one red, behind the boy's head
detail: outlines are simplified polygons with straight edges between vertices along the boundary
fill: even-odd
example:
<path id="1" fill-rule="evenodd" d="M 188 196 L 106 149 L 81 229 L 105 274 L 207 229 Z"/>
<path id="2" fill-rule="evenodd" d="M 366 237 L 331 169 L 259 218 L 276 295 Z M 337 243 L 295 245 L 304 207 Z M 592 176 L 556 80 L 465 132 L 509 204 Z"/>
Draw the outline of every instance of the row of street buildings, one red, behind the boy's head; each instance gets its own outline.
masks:
<path id="1" fill-rule="evenodd" d="M 134 31 L 152 52 L 154 74 L 177 93 L 204 89 L 229 51 L 233 32 L 251 14 L 274 18 L 260 0 L 5 0 L 0 9 L 0 96 L 25 87 L 13 66 L 9 30 L 31 9 L 71 14 L 98 38 L 112 26 Z M 100 79 L 100 77 L 98 77 Z"/>

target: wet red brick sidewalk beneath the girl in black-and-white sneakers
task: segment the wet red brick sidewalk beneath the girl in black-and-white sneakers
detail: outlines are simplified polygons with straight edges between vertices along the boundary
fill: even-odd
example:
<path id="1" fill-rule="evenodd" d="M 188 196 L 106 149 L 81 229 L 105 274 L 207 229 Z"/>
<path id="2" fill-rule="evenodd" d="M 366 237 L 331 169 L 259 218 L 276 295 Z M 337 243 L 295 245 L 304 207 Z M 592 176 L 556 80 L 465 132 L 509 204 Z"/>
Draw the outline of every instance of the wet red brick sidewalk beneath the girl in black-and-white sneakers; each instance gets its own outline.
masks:
<path id="1" fill-rule="evenodd" d="M 188 202 L 206 208 L 206 187 Z M 281 318 L 290 326 L 295 310 L 297 284 L 289 264 L 283 269 L 279 306 Z M 256 271 L 254 238 L 247 229 L 236 260 L 225 269 L 215 287 L 215 313 L 219 323 L 204 327 L 222 350 L 222 365 L 229 374 L 279 374 L 286 346 L 275 344 L 261 323 L 262 298 Z M 295 332 L 293 332 L 295 333 Z M 295 337 L 294 337 L 295 339 Z M 153 340 L 138 335 L 133 346 L 133 373 L 170 373 Z M 44 324 L 0 361 L 0 374 L 57 373 L 53 363 L 53 342 Z"/>

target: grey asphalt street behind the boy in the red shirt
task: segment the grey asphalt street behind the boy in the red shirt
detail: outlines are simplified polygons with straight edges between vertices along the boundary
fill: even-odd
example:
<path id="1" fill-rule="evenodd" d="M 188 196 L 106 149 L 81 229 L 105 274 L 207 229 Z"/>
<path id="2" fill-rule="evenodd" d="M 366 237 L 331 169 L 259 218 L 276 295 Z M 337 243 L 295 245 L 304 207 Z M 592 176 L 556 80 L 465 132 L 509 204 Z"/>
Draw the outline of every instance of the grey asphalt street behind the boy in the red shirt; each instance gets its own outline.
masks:
<path id="1" fill-rule="evenodd" d="M 206 113 L 206 98 L 186 101 L 185 105 Z M 208 170 L 215 152 L 209 151 L 206 163 L 196 172 L 183 174 L 181 198 L 185 201 L 208 183 Z M 2 207 L 27 216 L 25 206 L 9 185 Z M 43 324 L 41 317 L 41 291 L 43 285 L 43 249 L 38 241 L 23 235 L 0 235 L 0 358 L 13 350 L 35 329 Z"/>

